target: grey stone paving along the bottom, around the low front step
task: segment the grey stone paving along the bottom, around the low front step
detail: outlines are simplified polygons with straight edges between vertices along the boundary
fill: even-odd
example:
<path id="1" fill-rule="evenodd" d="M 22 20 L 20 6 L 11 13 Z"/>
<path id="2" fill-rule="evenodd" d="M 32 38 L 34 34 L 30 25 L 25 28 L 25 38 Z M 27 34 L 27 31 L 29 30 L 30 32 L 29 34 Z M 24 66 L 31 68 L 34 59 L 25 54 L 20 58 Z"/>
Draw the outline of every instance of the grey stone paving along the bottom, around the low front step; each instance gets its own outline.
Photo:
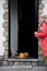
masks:
<path id="1" fill-rule="evenodd" d="M 46 67 L 34 67 L 31 70 L 16 70 L 12 67 L 0 67 L 0 71 L 47 71 Z"/>

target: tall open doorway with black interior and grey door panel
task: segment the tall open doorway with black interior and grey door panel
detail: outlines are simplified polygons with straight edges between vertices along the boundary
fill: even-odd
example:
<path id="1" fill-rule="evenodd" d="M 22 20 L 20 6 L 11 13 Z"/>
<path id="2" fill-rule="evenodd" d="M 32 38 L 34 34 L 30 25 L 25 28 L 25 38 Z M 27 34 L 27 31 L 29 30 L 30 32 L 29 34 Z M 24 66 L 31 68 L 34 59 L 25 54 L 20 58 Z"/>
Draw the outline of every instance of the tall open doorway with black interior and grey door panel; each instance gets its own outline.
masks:
<path id="1" fill-rule="evenodd" d="M 38 58 L 38 0 L 10 0 L 10 50 Z"/>

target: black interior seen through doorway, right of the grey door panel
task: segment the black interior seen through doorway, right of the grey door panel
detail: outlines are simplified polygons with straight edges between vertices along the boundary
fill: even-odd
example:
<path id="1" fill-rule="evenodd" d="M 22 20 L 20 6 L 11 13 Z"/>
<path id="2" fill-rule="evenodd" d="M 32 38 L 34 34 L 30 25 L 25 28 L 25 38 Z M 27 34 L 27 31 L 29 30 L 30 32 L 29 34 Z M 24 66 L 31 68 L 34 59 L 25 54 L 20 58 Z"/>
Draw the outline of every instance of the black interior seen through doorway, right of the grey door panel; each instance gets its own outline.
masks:
<path id="1" fill-rule="evenodd" d="M 9 1 L 10 7 L 11 1 L 12 0 Z M 32 2 L 31 0 L 13 0 L 13 3 L 15 4 L 16 1 L 17 1 L 16 51 L 19 54 L 28 52 L 31 58 L 38 58 L 38 40 L 34 36 L 34 32 L 38 29 L 38 0 L 32 0 Z M 12 15 L 11 11 L 10 14 Z M 10 15 L 10 27 L 11 27 L 11 15 Z M 11 37 L 11 31 L 10 31 L 10 37 Z"/>

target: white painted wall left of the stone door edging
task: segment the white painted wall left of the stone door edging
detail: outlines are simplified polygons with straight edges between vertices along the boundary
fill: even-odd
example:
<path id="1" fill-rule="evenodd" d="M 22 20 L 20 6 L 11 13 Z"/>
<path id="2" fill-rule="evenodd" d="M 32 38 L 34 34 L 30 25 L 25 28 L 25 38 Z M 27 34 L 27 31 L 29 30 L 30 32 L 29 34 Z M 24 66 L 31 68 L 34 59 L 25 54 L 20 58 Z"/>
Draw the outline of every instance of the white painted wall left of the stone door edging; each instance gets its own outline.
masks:
<path id="1" fill-rule="evenodd" d="M 4 37 L 3 37 L 3 28 L 2 28 L 2 23 L 3 23 L 3 3 L 4 3 L 4 0 L 0 0 L 0 56 L 3 55 L 4 52 L 4 47 L 3 47 L 3 40 L 4 40 Z"/>

